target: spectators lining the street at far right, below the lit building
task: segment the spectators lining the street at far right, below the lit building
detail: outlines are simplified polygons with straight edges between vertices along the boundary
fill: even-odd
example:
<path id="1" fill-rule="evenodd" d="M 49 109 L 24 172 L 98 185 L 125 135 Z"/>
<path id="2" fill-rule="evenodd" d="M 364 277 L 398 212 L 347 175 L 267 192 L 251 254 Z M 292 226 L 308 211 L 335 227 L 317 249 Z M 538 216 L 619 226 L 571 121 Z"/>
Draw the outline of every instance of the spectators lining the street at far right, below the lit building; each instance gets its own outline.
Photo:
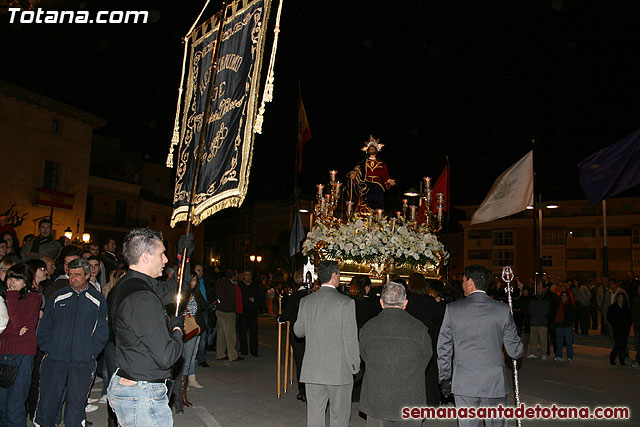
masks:
<path id="1" fill-rule="evenodd" d="M 532 283 L 514 283 L 514 319 L 522 336 L 527 357 L 573 361 L 575 335 L 601 334 L 611 343 L 610 363 L 626 366 L 629 357 L 628 340 L 632 330 L 636 348 L 640 347 L 640 280 L 632 271 L 624 281 L 602 278 L 598 280 L 565 280 L 559 276 L 552 281 L 542 275 L 534 290 Z M 489 294 L 506 300 L 503 284 L 495 281 Z M 632 361 L 640 367 L 640 353 Z"/>

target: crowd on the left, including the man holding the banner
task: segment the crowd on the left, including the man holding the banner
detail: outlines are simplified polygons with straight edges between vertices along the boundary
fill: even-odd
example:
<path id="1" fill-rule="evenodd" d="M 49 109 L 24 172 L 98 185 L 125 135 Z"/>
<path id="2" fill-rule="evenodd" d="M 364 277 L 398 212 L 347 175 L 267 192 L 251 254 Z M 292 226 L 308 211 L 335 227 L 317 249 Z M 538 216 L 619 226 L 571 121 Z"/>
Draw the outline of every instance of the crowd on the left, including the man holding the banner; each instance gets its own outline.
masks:
<path id="1" fill-rule="evenodd" d="M 271 288 L 265 300 L 270 287 L 251 271 L 215 277 L 191 261 L 192 236 L 178 242 L 188 254 L 178 299 L 181 259 L 168 263 L 160 233 L 134 229 L 118 247 L 115 239 L 54 240 L 47 218 L 39 232 L 19 246 L 12 229 L 0 229 L 0 364 L 15 374 L 0 387 L 3 426 L 24 426 L 27 417 L 40 426 L 90 425 L 87 413 L 107 403 L 110 426 L 170 425 L 172 410 L 191 406 L 187 390 L 203 388 L 196 366 L 209 367 L 208 351 L 220 360 L 260 356 L 258 315 L 286 293 Z M 101 397 L 89 398 L 100 381 Z M 136 393 L 166 402 L 127 406 L 134 383 Z"/>

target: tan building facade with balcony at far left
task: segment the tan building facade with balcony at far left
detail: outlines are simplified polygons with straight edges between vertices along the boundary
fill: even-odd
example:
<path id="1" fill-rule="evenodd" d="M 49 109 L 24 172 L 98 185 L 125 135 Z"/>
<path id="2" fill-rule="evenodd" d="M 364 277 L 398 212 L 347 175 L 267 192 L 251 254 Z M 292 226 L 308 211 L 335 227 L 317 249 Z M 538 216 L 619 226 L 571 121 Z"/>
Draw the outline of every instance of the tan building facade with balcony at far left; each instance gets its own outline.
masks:
<path id="1" fill-rule="evenodd" d="M 38 234 L 53 207 L 53 235 L 84 231 L 89 159 L 100 117 L 0 81 L 0 212 L 24 216 L 18 238 Z"/>

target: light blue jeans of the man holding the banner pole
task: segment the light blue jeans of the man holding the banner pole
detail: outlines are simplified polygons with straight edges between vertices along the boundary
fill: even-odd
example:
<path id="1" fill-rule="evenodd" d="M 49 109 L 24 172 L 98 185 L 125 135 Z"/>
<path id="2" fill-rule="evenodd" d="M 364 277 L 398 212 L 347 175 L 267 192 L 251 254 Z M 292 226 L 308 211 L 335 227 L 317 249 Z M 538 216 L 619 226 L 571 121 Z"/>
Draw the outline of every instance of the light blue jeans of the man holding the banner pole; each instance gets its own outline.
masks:
<path id="1" fill-rule="evenodd" d="M 138 381 L 127 386 L 116 372 L 109 381 L 107 397 L 122 427 L 172 427 L 167 386 L 164 383 Z M 126 380 L 125 380 L 126 381 Z"/>

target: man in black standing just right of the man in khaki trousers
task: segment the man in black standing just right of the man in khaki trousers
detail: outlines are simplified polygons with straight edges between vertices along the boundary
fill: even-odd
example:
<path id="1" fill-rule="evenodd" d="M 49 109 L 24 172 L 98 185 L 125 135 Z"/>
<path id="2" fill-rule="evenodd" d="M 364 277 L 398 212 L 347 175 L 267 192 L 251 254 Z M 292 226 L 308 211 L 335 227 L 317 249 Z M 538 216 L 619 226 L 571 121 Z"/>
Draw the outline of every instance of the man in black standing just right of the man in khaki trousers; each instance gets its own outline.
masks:
<path id="1" fill-rule="evenodd" d="M 262 304 L 262 292 L 253 280 L 253 273 L 245 271 L 238 283 L 242 292 L 242 314 L 238 316 L 240 332 L 240 353 L 247 355 L 247 331 L 249 331 L 249 349 L 253 357 L 258 357 L 258 308 Z"/>

